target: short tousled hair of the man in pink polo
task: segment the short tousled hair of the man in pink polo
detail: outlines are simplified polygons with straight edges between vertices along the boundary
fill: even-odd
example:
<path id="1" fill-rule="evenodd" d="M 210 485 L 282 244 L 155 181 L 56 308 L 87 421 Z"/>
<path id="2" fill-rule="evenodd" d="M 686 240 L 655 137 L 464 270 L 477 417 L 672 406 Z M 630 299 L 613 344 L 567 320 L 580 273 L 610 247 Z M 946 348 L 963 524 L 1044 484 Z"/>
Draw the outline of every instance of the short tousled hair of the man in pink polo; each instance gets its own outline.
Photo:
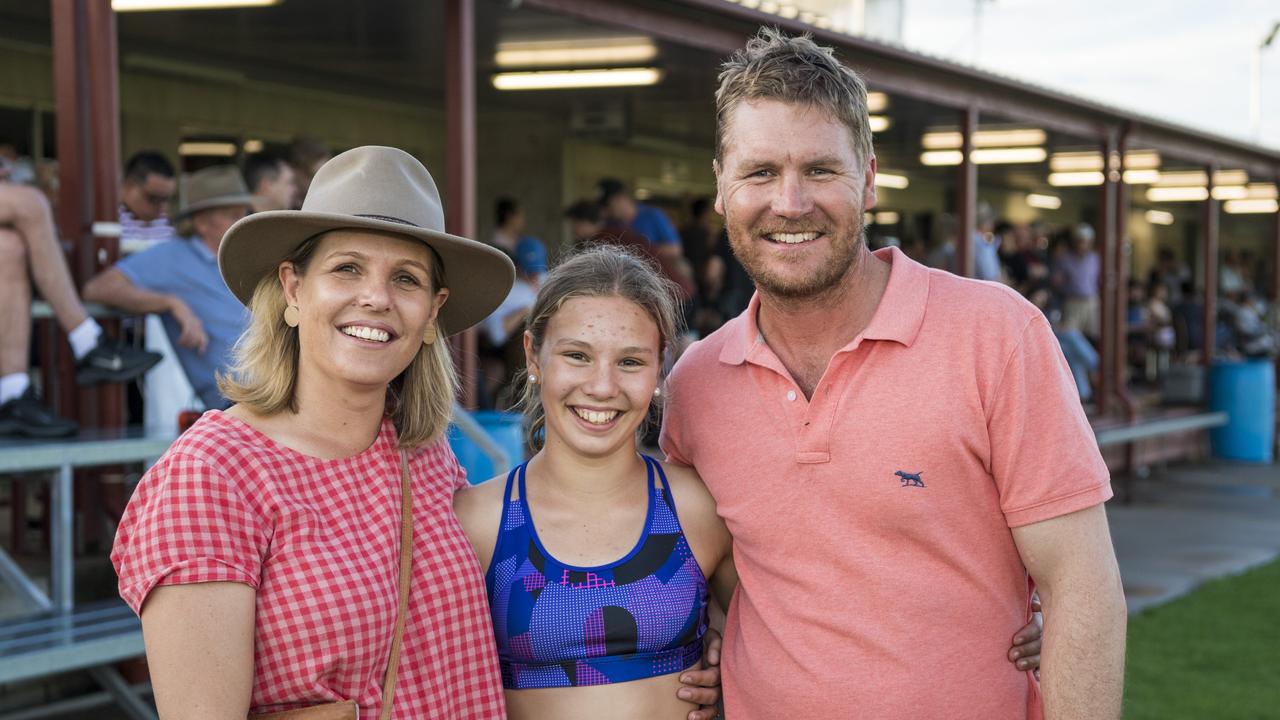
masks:
<path id="1" fill-rule="evenodd" d="M 867 118 L 867 85 L 808 35 L 787 37 L 760 28 L 721 65 L 716 90 L 716 159 L 724 156 L 728 118 L 740 102 L 777 100 L 808 105 L 831 114 L 849 128 L 860 161 L 872 158 L 872 128 Z"/>

